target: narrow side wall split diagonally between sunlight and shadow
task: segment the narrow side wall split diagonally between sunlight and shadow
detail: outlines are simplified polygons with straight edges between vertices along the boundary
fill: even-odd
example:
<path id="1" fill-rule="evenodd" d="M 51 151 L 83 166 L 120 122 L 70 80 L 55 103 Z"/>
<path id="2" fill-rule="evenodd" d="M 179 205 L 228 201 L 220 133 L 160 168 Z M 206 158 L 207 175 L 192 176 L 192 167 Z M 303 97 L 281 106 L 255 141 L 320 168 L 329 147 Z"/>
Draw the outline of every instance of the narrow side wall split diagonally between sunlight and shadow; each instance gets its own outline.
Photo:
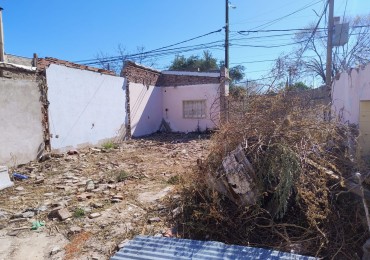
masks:
<path id="1" fill-rule="evenodd" d="M 163 118 L 161 88 L 130 83 L 129 90 L 132 136 L 158 131 Z"/>

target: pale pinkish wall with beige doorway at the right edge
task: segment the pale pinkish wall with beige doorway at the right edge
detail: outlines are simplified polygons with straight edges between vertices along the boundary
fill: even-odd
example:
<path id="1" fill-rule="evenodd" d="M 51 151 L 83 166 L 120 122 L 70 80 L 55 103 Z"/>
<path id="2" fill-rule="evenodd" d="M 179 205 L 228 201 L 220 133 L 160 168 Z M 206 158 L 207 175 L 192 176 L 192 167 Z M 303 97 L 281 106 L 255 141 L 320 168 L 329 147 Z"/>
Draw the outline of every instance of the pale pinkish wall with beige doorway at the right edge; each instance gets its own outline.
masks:
<path id="1" fill-rule="evenodd" d="M 332 109 L 360 130 L 360 147 L 370 156 L 370 64 L 340 73 L 332 85 Z"/>

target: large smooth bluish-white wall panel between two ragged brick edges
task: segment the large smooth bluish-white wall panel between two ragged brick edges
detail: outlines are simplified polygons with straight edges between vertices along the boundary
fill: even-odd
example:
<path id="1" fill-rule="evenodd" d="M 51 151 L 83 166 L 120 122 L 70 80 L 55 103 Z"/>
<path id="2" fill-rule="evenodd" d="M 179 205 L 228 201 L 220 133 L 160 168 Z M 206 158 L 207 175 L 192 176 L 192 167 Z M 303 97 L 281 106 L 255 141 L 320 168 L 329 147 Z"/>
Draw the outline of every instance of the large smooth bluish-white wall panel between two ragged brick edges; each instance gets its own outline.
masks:
<path id="1" fill-rule="evenodd" d="M 124 78 L 52 64 L 46 79 L 52 149 L 98 144 L 125 129 Z"/>

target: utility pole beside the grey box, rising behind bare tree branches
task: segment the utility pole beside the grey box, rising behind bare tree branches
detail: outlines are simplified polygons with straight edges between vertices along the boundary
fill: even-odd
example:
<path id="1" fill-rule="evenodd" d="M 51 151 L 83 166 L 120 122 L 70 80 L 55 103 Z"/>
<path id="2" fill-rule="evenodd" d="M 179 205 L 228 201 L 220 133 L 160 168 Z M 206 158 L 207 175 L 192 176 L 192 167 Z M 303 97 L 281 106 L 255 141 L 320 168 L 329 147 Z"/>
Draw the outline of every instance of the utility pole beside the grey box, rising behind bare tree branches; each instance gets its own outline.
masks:
<path id="1" fill-rule="evenodd" d="M 328 44 L 326 53 L 326 90 L 327 101 L 331 102 L 331 73 L 333 59 L 333 31 L 334 31 L 334 0 L 329 1 L 329 21 L 328 21 Z"/>

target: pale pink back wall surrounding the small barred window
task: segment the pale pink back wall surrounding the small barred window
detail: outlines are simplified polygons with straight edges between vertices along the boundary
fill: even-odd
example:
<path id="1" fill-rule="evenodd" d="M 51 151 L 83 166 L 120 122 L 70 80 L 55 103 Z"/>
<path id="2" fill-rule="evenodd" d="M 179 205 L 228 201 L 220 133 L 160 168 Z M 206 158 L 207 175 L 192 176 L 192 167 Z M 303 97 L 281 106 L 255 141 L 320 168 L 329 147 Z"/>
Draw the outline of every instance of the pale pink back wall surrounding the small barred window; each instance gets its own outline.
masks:
<path id="1" fill-rule="evenodd" d="M 198 126 L 201 131 L 215 128 L 219 119 L 219 89 L 219 84 L 162 87 L 163 118 L 175 132 L 193 132 Z M 202 99 L 206 100 L 206 118 L 183 118 L 183 101 Z"/>

